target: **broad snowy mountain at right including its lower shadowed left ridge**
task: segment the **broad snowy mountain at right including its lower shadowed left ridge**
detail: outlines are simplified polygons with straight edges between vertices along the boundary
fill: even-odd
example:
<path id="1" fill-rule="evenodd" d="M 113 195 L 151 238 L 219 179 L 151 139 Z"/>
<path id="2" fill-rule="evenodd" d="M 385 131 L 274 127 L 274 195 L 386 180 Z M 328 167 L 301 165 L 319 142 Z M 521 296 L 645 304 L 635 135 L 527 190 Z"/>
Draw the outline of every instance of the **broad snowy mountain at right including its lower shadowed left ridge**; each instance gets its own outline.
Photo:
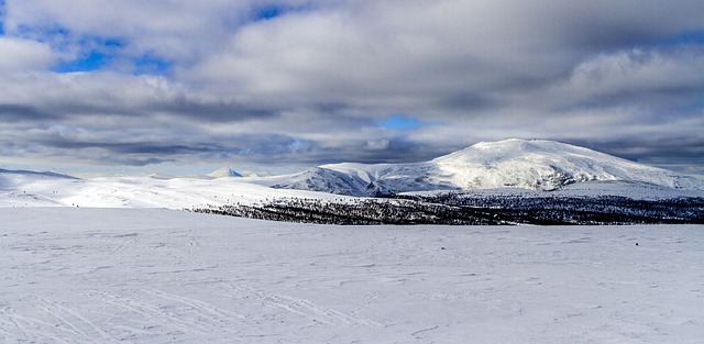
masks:
<path id="1" fill-rule="evenodd" d="M 512 138 L 415 164 L 332 164 L 276 179 L 274 188 L 378 196 L 427 190 L 522 188 L 552 191 L 586 181 L 704 190 L 704 181 L 554 141 Z"/>

